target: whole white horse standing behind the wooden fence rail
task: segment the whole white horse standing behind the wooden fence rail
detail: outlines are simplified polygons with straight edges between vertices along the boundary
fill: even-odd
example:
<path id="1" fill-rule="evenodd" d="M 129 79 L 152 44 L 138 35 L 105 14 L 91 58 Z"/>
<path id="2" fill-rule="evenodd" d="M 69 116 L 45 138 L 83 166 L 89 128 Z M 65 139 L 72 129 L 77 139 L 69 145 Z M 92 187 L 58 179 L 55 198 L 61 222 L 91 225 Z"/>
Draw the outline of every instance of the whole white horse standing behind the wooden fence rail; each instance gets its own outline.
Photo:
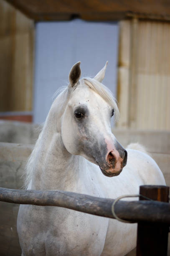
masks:
<path id="1" fill-rule="evenodd" d="M 118 109 L 101 84 L 106 67 L 94 79 L 81 80 L 80 62 L 72 67 L 28 161 L 28 189 L 116 198 L 138 193 L 142 184 L 165 184 L 150 156 L 126 151 L 114 137 L 111 117 Z M 125 255 L 135 247 L 136 226 L 35 205 L 20 205 L 17 222 L 23 256 Z"/>

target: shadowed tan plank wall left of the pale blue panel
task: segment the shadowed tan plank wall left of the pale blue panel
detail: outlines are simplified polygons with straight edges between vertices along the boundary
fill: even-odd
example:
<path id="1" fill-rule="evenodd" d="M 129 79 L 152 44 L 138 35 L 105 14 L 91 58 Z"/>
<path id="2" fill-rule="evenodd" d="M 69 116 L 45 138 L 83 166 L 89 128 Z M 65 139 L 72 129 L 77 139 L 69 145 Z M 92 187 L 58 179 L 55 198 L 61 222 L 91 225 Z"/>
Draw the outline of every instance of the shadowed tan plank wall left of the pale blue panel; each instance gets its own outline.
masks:
<path id="1" fill-rule="evenodd" d="M 34 22 L 0 0 L 0 112 L 31 111 Z"/>

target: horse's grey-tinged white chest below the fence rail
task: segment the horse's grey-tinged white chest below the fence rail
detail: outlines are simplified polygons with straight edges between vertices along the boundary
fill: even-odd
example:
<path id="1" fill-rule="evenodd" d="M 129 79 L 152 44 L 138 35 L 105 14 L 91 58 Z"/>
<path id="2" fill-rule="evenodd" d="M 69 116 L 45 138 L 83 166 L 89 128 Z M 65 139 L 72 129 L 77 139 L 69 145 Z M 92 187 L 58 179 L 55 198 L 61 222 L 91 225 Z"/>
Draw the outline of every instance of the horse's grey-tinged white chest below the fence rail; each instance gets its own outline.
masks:
<path id="1" fill-rule="evenodd" d="M 25 241 L 23 251 L 27 251 L 28 256 L 95 256 L 103 250 L 108 225 L 106 218 L 58 207 L 28 206 L 25 219 L 27 221 L 23 223 L 20 220 L 20 237 Z"/>

